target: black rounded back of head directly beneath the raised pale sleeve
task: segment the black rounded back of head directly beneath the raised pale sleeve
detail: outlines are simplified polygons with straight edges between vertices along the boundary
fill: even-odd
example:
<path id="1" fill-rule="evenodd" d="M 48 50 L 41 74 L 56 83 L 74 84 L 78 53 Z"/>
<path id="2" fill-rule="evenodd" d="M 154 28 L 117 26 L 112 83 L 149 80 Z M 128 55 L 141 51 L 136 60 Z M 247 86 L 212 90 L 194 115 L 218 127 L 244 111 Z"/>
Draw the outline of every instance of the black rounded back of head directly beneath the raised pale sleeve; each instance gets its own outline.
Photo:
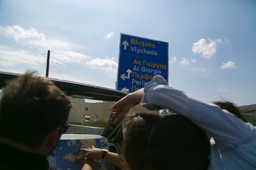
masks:
<path id="1" fill-rule="evenodd" d="M 210 143 L 205 132 L 180 115 L 161 118 L 148 137 L 152 169 L 207 169 Z"/>

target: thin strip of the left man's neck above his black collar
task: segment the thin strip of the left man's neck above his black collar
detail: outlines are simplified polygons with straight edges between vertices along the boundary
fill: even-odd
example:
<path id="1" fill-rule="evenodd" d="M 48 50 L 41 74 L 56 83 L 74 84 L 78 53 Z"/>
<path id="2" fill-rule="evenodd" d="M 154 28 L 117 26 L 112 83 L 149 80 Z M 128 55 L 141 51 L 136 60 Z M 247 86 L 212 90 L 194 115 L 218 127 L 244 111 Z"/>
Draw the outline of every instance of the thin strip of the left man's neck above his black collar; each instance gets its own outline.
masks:
<path id="1" fill-rule="evenodd" d="M 24 143 L 13 141 L 12 139 L 0 137 L 0 143 L 25 152 L 44 155 L 43 153 L 40 153 L 40 148 L 33 148 L 31 146 L 25 145 Z"/>

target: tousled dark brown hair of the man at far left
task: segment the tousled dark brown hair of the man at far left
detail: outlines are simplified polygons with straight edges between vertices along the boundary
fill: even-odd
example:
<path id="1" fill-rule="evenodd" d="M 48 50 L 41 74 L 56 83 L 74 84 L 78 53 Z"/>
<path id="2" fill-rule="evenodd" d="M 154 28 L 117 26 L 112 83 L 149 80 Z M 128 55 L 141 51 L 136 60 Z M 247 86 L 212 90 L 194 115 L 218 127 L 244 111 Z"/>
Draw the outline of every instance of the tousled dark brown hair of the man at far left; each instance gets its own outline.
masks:
<path id="1" fill-rule="evenodd" d="M 6 82 L 0 103 L 0 136 L 39 148 L 49 132 L 65 124 L 71 103 L 52 81 L 33 74 Z"/>

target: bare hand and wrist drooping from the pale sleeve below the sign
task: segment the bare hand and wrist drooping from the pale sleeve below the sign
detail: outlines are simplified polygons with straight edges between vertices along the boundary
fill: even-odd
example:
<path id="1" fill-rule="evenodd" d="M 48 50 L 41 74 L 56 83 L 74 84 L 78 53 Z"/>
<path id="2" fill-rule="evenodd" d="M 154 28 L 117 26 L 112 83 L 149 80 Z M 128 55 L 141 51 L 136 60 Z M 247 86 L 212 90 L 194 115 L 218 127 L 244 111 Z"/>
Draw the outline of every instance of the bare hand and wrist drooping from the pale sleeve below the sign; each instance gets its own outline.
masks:
<path id="1" fill-rule="evenodd" d="M 140 89 L 136 92 L 127 94 L 127 96 L 123 97 L 112 106 L 111 111 L 113 113 L 113 117 L 115 118 L 115 122 L 113 122 L 114 124 L 116 124 L 123 115 L 128 113 L 135 103 L 141 101 L 144 94 L 143 90 L 144 89 Z"/>

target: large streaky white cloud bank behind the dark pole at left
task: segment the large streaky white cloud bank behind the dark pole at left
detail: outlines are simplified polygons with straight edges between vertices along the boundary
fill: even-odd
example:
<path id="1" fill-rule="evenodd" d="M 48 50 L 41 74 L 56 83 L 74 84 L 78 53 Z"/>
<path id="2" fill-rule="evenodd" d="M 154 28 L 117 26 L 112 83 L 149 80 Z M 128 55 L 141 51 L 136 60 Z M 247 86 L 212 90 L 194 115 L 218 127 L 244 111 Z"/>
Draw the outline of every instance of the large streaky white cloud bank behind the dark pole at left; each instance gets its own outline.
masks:
<path id="1" fill-rule="evenodd" d="M 91 58 L 73 51 L 76 48 L 84 47 L 58 39 L 47 39 L 44 33 L 38 32 L 32 27 L 24 29 L 19 25 L 0 26 L 0 35 L 8 41 L 13 41 L 12 45 L 0 46 L 0 61 L 4 66 L 17 66 L 18 64 L 38 66 L 38 64 L 44 64 L 46 62 L 44 53 L 47 53 L 49 49 L 51 50 L 52 61 L 59 64 L 70 62 L 81 64 L 84 59 Z"/>

